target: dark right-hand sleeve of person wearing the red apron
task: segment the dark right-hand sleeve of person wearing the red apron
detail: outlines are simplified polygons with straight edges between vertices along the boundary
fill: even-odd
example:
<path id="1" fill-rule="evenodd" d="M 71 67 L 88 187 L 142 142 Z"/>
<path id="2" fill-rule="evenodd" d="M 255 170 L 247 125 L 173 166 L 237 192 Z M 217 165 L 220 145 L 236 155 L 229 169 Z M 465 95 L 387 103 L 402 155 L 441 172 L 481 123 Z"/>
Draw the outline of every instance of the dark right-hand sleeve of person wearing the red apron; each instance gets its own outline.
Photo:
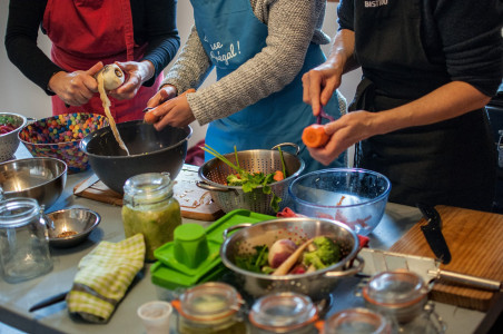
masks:
<path id="1" fill-rule="evenodd" d="M 135 40 L 139 45 L 148 43 L 141 60 L 151 61 L 156 69 L 155 76 L 144 86 L 154 85 L 180 47 L 176 7 L 177 0 L 131 0 Z"/>

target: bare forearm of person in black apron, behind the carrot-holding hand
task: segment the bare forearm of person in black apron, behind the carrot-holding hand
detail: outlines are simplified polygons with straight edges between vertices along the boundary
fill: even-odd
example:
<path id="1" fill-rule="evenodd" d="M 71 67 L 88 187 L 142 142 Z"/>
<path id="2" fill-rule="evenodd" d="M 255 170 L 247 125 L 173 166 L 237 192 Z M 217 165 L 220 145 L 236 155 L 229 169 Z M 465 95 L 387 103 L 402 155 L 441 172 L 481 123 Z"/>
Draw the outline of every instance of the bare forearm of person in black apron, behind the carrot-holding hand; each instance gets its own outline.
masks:
<path id="1" fill-rule="evenodd" d="M 453 81 L 401 107 L 372 114 L 374 135 L 431 125 L 484 107 L 490 97 L 473 86 Z"/>

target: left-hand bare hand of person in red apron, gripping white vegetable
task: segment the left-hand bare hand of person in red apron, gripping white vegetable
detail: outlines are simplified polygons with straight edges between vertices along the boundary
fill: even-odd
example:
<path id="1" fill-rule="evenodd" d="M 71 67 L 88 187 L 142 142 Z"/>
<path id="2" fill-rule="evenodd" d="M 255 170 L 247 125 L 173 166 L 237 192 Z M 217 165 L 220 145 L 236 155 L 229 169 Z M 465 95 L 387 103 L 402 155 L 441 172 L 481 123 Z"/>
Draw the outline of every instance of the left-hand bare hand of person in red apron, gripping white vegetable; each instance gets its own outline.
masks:
<path id="1" fill-rule="evenodd" d="M 99 61 L 87 71 L 57 72 L 49 80 L 49 89 L 66 105 L 85 105 L 98 91 L 98 82 L 93 76 L 102 68 L 103 63 Z"/>

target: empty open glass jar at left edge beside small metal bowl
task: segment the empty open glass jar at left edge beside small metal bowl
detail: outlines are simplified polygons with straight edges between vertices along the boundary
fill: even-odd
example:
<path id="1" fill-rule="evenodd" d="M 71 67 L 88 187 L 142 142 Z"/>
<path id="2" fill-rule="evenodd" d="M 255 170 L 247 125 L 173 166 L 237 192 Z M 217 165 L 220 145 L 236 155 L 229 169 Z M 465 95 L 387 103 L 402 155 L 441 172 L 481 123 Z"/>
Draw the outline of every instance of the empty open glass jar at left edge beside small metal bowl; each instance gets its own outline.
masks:
<path id="1" fill-rule="evenodd" d="M 3 278 L 18 283 L 52 269 L 43 208 L 32 198 L 0 202 L 0 266 Z"/>

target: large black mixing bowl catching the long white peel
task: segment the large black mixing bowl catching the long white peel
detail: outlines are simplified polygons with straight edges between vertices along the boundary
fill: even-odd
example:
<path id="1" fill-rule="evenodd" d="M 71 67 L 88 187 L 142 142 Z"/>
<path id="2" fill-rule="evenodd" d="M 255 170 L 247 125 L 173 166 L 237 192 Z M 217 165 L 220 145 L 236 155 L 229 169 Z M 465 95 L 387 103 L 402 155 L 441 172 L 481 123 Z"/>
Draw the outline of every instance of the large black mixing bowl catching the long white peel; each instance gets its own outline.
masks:
<path id="1" fill-rule="evenodd" d="M 110 127 L 99 129 L 80 143 L 89 164 L 100 180 L 110 189 L 122 194 L 128 178 L 145 173 L 168 171 L 171 179 L 180 173 L 187 156 L 187 143 L 193 129 L 166 127 L 157 131 L 142 120 L 117 125 L 120 137 L 129 150 L 119 147 Z"/>

